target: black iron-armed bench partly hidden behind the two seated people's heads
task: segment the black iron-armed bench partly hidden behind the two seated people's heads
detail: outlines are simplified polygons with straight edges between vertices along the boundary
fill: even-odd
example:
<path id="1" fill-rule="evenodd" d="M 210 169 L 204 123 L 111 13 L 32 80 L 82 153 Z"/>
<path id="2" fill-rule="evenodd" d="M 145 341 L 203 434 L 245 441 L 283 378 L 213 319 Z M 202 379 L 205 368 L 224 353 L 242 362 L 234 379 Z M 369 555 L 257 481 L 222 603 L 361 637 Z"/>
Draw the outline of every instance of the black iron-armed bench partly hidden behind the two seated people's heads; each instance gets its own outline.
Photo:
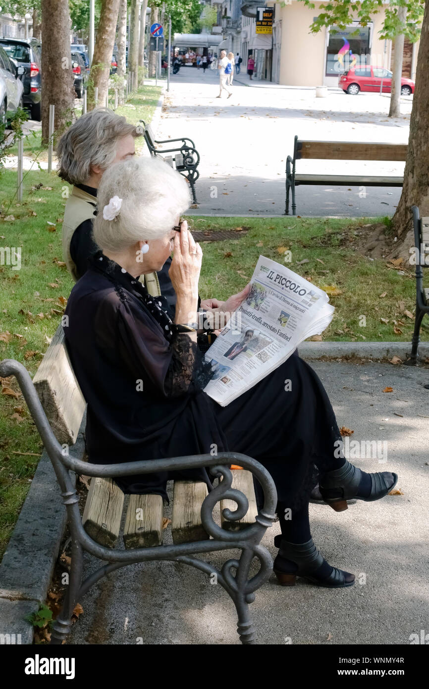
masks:
<path id="1" fill-rule="evenodd" d="M 167 138 L 165 141 L 158 141 L 154 137 L 150 125 L 147 125 L 143 120 L 140 120 L 140 122 L 143 125 L 142 133 L 143 136 L 145 136 L 145 141 L 151 156 L 162 158 L 170 167 L 173 167 L 173 169 L 176 169 L 182 176 L 187 178 L 187 181 L 191 185 L 193 203 L 197 203 L 195 183 L 200 176 L 197 169 L 198 163 L 200 163 L 200 154 L 196 150 L 192 139 L 182 136 L 180 138 Z M 180 145 L 171 148 L 171 144 L 177 141 L 180 141 Z M 166 143 L 169 145 L 169 148 L 160 149 L 158 147 Z M 173 155 L 166 155 L 169 153 Z"/>

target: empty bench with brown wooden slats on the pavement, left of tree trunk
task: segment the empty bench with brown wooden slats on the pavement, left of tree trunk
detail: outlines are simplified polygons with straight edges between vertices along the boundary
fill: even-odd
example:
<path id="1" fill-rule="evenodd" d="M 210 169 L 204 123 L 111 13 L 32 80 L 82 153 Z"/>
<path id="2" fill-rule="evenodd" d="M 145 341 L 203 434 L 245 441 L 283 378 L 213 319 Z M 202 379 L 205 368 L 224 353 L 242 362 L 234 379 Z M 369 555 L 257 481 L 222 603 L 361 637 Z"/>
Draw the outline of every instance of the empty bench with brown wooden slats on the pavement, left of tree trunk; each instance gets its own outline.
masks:
<path id="1" fill-rule="evenodd" d="M 406 143 L 368 143 L 366 141 L 306 141 L 295 136 L 293 156 L 286 158 L 286 208 L 289 215 L 289 194 L 292 192 L 292 214 L 296 215 L 295 187 L 306 184 L 329 184 L 339 187 L 401 187 L 402 176 L 301 174 L 296 161 L 405 161 Z"/>

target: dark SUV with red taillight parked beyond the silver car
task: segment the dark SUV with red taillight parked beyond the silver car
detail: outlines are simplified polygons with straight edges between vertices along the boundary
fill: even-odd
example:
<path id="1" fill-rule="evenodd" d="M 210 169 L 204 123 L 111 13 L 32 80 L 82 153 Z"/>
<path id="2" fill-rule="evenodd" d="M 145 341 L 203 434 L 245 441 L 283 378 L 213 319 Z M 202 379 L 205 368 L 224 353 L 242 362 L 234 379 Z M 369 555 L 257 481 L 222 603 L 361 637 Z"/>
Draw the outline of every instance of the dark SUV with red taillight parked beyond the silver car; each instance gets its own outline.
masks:
<path id="1" fill-rule="evenodd" d="M 23 103 L 33 120 L 41 121 L 41 45 L 35 39 L 0 39 L 0 46 L 24 72 L 20 75 L 24 87 Z"/>

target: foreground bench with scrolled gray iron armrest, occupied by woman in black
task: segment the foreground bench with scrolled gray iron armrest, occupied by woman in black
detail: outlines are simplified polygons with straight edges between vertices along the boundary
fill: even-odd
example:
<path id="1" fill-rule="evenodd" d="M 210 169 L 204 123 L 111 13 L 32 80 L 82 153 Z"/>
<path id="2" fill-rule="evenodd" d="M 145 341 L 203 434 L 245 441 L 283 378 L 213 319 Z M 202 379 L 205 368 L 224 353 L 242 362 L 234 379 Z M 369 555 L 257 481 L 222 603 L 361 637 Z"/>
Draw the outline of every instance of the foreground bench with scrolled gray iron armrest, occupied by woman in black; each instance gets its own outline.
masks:
<path id="1" fill-rule="evenodd" d="M 169 560 L 183 562 L 211 576 L 229 593 L 238 613 L 238 634 L 242 644 L 255 643 L 255 629 L 248 604 L 271 575 L 272 559 L 260 541 L 275 517 L 277 495 L 273 480 L 264 467 L 247 455 L 225 452 L 218 455 L 193 455 L 142 460 L 123 464 L 91 464 L 73 457 L 73 444 L 81 428 L 85 400 L 67 356 L 63 329 L 57 329 L 34 380 L 22 364 L 6 359 L 0 362 L 0 376 L 16 376 L 45 449 L 54 466 L 67 510 L 70 526 L 70 584 L 61 613 L 54 621 L 52 644 L 61 644 L 71 628 L 76 603 L 103 576 L 137 562 Z M 179 449 L 178 449 L 179 450 Z M 229 468 L 231 464 L 243 470 Z M 113 480 L 115 476 L 152 471 L 211 468 L 219 482 L 207 493 L 204 483 L 174 482 L 171 535 L 173 545 L 164 545 L 163 499 L 160 495 L 125 496 Z M 74 473 L 92 477 L 83 517 Z M 253 476 L 264 492 L 264 506 L 258 512 L 253 491 Z M 124 503 L 127 502 L 123 543 L 116 549 L 121 532 Z M 213 519 L 213 508 L 220 502 L 221 524 Z M 236 508 L 236 504 L 238 505 Z M 43 505 L 40 506 L 43 511 Z M 37 515 L 34 515 L 37 519 Z M 221 570 L 196 557 L 236 548 L 240 559 L 228 559 Z M 93 575 L 82 580 L 83 551 L 104 560 Z M 249 579 L 253 558 L 260 563 L 258 573 Z M 236 570 L 235 575 L 231 570 Z"/>

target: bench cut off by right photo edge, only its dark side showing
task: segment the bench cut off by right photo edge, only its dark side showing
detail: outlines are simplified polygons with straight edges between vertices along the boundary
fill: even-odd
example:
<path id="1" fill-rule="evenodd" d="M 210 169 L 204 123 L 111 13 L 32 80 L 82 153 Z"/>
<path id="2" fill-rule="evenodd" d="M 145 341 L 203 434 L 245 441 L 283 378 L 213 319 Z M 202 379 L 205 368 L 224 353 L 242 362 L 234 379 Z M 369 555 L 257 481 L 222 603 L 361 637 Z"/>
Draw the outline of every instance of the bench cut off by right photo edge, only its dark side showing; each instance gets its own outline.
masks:
<path id="1" fill-rule="evenodd" d="M 416 316 L 410 358 L 404 363 L 415 366 L 419 356 L 421 321 L 425 313 L 429 313 L 429 288 L 423 287 L 423 267 L 429 265 L 429 218 L 421 218 L 417 206 L 411 206 L 411 210 L 416 264 Z"/>

